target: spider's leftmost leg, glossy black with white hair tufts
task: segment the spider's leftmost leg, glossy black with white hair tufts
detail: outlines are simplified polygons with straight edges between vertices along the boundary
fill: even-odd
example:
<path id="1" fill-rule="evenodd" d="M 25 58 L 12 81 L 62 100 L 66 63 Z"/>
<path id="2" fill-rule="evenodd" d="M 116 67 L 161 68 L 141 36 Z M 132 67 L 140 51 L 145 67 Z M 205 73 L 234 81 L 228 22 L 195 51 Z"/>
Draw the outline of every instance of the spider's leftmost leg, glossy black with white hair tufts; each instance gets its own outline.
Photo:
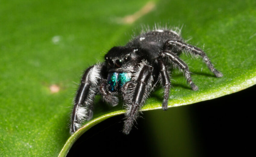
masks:
<path id="1" fill-rule="evenodd" d="M 91 108 L 97 94 L 98 81 L 102 77 L 101 71 L 104 67 L 104 64 L 96 64 L 89 67 L 83 74 L 74 100 L 70 134 L 78 130 L 83 121 L 92 118 Z"/>

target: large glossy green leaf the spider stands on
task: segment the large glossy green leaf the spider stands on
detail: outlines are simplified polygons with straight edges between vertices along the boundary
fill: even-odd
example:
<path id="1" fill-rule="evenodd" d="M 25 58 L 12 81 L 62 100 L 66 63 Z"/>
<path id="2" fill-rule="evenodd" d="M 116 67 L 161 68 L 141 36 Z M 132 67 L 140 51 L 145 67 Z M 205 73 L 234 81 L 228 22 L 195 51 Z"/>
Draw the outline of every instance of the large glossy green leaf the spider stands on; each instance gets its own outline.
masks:
<path id="1" fill-rule="evenodd" d="M 190 44 L 204 49 L 224 75 L 216 78 L 200 59 L 182 55 L 199 90 L 192 91 L 182 73 L 174 71 L 169 107 L 224 96 L 256 83 L 255 1 L 153 1 L 140 10 L 146 4 L 1 2 L 0 156 L 65 156 L 90 127 L 123 114 L 121 105 L 108 108 L 96 101 L 93 119 L 69 137 L 77 88 L 72 82 L 79 82 L 82 71 L 102 61 L 112 46 L 128 42 L 141 25 L 183 26 L 184 39 L 191 38 Z M 122 18 L 127 15 L 133 15 L 132 24 Z M 158 88 L 152 93 L 142 110 L 161 108 L 161 92 Z"/>

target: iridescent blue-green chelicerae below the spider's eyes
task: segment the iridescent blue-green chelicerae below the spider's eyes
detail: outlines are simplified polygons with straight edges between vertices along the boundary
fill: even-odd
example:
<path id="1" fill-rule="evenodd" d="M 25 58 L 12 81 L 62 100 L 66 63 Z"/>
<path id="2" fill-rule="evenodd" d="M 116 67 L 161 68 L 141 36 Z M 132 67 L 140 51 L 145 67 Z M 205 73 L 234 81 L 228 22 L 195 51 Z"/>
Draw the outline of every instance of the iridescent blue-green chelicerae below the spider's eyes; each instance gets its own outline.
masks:
<path id="1" fill-rule="evenodd" d="M 109 91 L 114 92 L 121 88 L 126 82 L 131 80 L 131 73 L 108 73 L 107 84 Z"/>

